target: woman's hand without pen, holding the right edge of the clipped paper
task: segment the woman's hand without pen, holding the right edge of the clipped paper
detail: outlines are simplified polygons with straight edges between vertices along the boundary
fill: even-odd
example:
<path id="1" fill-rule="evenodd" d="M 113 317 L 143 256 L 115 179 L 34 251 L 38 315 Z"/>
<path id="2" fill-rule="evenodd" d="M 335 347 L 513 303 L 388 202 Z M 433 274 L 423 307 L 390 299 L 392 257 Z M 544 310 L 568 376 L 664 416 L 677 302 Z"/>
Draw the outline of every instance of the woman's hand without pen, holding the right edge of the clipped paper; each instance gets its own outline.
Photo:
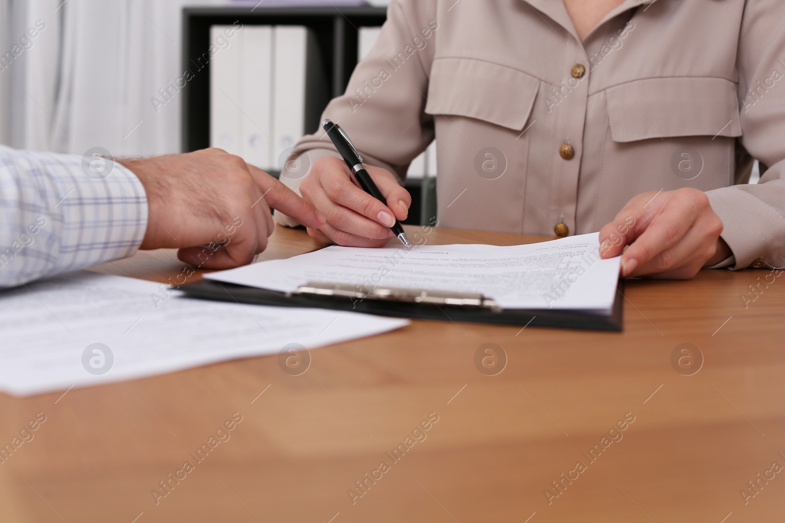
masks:
<path id="1" fill-rule="evenodd" d="M 688 279 L 731 256 L 721 232 L 722 220 L 702 191 L 648 192 L 602 227 L 600 252 L 603 258 L 622 254 L 623 276 Z"/>

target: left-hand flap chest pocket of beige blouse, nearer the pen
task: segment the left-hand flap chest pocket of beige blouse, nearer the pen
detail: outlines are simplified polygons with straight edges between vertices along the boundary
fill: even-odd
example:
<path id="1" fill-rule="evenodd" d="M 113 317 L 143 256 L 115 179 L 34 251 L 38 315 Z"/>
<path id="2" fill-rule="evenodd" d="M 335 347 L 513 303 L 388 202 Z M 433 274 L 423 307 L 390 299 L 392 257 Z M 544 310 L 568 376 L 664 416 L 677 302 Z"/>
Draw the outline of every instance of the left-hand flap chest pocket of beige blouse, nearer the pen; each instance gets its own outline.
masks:
<path id="1" fill-rule="evenodd" d="M 539 79 L 466 57 L 433 60 L 425 112 L 436 127 L 436 199 L 447 227 L 520 231 Z M 480 209 L 494 209 L 480 212 Z"/>

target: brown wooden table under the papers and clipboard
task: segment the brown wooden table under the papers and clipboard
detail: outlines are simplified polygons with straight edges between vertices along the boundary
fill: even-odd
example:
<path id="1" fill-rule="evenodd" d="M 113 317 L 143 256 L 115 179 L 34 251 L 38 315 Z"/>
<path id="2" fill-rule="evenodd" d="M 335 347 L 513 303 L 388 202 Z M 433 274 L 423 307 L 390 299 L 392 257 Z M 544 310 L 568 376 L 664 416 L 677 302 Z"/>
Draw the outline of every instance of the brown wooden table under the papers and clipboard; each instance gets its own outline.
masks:
<path id="1" fill-rule="evenodd" d="M 315 248 L 279 229 L 260 259 Z M 181 263 L 140 252 L 97 270 L 165 281 Z M 775 274 L 630 281 L 623 333 L 413 321 L 313 350 L 301 376 L 268 356 L 0 395 L 2 443 L 46 416 L 0 464 L 0 521 L 783 521 L 785 471 L 772 463 L 785 467 L 785 277 Z M 498 349 L 495 367 L 476 366 L 487 343 L 502 347 L 503 369 Z M 692 353 L 672 363 L 682 343 Z M 190 452 L 235 412 L 230 439 L 197 462 Z M 416 431 L 429 414 L 438 422 Z M 610 431 L 625 416 L 634 421 Z M 413 430 L 422 441 L 405 441 Z M 186 461 L 193 470 L 178 472 Z"/>

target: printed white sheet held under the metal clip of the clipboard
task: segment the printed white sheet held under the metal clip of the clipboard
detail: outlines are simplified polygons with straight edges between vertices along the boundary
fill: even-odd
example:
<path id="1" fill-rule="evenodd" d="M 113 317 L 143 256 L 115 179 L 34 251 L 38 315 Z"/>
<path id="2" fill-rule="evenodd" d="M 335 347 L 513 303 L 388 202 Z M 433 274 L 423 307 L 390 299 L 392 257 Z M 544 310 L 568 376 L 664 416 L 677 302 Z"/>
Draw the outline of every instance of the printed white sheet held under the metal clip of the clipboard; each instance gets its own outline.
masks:
<path id="1" fill-rule="evenodd" d="M 206 274 L 206 278 L 279 292 L 309 281 L 479 292 L 505 309 L 611 311 L 620 258 L 601 260 L 599 233 L 553 242 L 496 245 L 332 246 Z"/>

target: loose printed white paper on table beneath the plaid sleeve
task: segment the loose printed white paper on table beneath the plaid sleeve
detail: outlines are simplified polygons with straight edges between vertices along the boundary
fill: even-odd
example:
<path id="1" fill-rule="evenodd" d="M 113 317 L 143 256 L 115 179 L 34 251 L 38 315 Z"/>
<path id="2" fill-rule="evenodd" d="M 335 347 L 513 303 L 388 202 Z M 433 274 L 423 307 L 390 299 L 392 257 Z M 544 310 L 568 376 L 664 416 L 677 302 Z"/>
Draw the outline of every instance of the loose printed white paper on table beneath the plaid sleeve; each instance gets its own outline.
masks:
<path id="1" fill-rule="evenodd" d="M 289 343 L 312 349 L 409 323 L 179 294 L 168 285 L 91 272 L 0 292 L 0 390 L 27 395 L 130 380 L 276 354 Z M 114 358 L 103 375 L 93 375 L 82 363 L 82 353 L 93 343 L 104 343 Z"/>

